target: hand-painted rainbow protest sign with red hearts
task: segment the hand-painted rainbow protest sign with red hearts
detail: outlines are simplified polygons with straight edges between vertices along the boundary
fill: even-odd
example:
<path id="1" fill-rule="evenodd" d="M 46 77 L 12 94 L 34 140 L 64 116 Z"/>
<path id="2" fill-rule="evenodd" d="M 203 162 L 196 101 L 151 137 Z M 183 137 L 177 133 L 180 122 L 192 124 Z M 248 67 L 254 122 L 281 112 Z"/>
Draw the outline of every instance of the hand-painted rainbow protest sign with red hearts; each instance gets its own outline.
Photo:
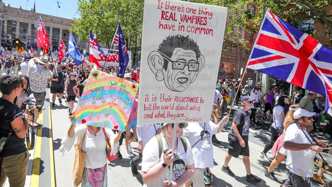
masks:
<path id="1" fill-rule="evenodd" d="M 125 131 L 137 89 L 133 82 L 91 71 L 73 112 L 74 122 Z"/>

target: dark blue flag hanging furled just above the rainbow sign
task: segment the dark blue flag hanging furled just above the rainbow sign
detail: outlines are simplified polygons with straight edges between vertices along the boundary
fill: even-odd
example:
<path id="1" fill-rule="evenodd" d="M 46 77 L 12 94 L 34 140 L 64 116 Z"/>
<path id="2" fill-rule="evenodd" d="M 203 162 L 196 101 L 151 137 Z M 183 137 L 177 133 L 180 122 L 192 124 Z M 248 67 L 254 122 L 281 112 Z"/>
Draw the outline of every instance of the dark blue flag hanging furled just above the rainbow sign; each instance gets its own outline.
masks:
<path id="1" fill-rule="evenodd" d="M 120 24 L 118 24 L 116 36 L 118 37 L 118 63 L 119 63 L 119 66 L 120 66 L 118 76 L 123 78 L 123 76 L 125 75 L 126 67 L 128 65 L 128 62 L 129 62 L 129 55 L 128 55 L 128 51 L 127 51 L 125 37 L 122 33 Z M 115 39 L 116 38 L 114 38 L 114 40 Z"/>

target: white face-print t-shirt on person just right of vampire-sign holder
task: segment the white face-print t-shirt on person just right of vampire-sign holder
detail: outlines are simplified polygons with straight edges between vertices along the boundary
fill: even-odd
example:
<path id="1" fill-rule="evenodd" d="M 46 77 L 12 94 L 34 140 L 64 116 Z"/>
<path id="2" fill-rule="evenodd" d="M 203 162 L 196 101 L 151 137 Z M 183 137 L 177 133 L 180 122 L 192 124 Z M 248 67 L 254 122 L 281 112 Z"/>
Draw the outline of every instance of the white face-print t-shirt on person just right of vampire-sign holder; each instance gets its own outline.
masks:
<path id="1" fill-rule="evenodd" d="M 200 140 L 193 148 L 193 156 L 195 168 L 213 168 L 214 154 L 212 148 L 212 135 L 217 133 L 217 125 L 213 122 L 209 123 L 188 123 L 183 129 L 183 136 L 188 138 L 190 145 L 194 145 L 203 134 L 205 124 L 205 133 L 203 139 Z M 207 131 L 207 132 L 206 132 Z"/>

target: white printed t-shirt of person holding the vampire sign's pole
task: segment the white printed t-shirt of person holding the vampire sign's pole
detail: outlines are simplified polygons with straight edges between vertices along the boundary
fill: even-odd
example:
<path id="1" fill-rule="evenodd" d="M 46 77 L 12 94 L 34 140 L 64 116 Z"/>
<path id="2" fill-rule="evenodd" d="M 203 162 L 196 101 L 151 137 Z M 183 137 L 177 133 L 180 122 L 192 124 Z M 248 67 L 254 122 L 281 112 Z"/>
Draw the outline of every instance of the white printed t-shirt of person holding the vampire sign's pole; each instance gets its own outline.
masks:
<path id="1" fill-rule="evenodd" d="M 167 145 L 167 142 L 165 138 L 162 136 L 162 143 L 163 143 L 163 150 L 164 149 L 170 149 Z M 175 149 L 175 154 L 177 154 L 180 159 L 173 162 L 173 176 L 172 180 L 177 180 L 184 172 L 186 166 L 191 166 L 194 164 L 193 159 L 193 153 L 191 145 L 187 138 L 185 138 L 187 141 L 187 151 L 184 151 L 182 142 L 180 137 L 178 137 L 178 147 Z M 145 146 L 143 150 L 143 160 L 142 160 L 142 172 L 147 172 L 152 168 L 153 166 L 157 165 L 159 162 L 163 162 L 163 153 L 161 153 L 161 157 L 159 158 L 159 148 L 157 143 L 157 138 L 152 137 L 148 144 Z M 170 169 L 167 168 L 164 173 L 161 174 L 161 176 L 153 183 L 150 184 L 144 184 L 143 186 L 146 187 L 161 187 L 163 186 L 163 182 L 165 180 L 168 180 L 170 173 Z"/>

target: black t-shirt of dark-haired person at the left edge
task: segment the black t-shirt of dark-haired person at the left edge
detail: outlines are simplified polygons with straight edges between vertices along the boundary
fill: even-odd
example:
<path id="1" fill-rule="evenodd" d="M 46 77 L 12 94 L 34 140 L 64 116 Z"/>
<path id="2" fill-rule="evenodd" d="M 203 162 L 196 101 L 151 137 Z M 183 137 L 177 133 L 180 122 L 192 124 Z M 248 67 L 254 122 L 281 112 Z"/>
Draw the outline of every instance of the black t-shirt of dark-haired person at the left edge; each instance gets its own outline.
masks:
<path id="1" fill-rule="evenodd" d="M 21 118 L 22 111 L 17 105 L 0 98 L 0 106 L 7 107 L 0 110 L 0 138 L 7 137 L 10 129 L 12 129 L 11 122 L 15 118 Z M 23 123 L 23 121 L 22 121 Z M 19 138 L 15 132 L 7 139 L 7 143 L 2 151 L 3 156 L 11 156 L 27 151 L 25 138 Z"/>

